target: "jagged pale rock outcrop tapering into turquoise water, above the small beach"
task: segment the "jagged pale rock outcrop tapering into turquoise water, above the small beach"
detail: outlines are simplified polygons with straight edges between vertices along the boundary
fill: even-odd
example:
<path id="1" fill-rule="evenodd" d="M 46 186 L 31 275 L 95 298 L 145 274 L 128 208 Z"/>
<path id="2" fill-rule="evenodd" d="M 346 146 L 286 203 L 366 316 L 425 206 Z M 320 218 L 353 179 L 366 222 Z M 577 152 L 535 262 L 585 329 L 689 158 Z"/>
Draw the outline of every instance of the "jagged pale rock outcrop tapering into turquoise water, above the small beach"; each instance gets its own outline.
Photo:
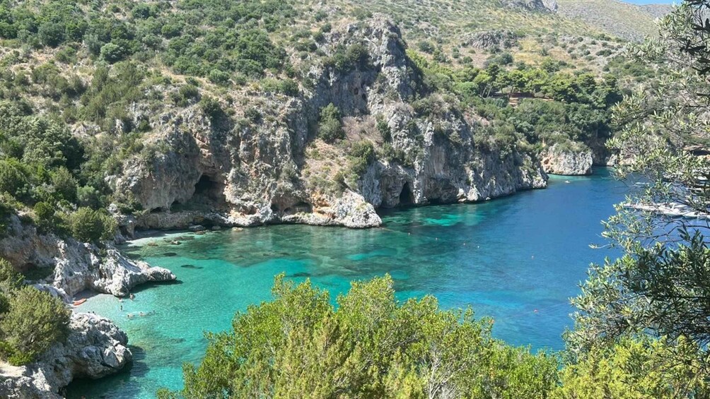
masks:
<path id="1" fill-rule="evenodd" d="M 114 296 L 127 296 L 138 284 L 147 281 L 172 281 L 168 269 L 132 261 L 107 245 L 103 251 L 95 245 L 40 234 L 33 225 L 11 216 L 8 231 L 0 239 L 0 257 L 18 269 L 47 269 L 42 285 L 68 300 L 76 293 L 91 289 Z"/>

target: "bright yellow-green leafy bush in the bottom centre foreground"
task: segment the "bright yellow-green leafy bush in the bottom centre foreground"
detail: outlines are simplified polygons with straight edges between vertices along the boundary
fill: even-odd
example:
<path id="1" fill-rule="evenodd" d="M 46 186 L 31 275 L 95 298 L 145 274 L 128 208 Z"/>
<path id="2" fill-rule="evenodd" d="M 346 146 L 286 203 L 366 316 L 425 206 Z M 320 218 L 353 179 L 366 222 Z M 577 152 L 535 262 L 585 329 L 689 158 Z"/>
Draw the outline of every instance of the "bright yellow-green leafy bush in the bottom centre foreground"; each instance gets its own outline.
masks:
<path id="1" fill-rule="evenodd" d="M 185 398 L 545 398 L 557 361 L 491 338 L 471 310 L 435 298 L 400 303 L 386 276 L 337 298 L 278 276 L 275 300 L 208 335 L 200 366 L 185 364 Z M 162 390 L 161 398 L 178 393 Z"/>

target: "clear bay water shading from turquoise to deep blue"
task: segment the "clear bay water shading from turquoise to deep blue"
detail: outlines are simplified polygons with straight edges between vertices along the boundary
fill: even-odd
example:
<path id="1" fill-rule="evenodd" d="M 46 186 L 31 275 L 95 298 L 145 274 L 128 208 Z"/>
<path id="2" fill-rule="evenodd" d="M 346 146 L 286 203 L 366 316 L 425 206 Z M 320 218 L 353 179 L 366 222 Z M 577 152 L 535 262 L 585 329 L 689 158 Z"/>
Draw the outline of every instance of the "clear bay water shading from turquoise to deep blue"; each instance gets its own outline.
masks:
<path id="1" fill-rule="evenodd" d="M 606 169 L 595 172 L 552 177 L 546 190 L 488 203 L 385 213 L 384 227 L 372 230 L 278 225 L 129 247 L 181 283 L 143 287 L 123 303 L 96 296 L 82 305 L 128 332 L 136 359 L 117 376 L 72 383 L 67 394 L 152 398 L 161 386 L 180 388 L 182 363 L 204 352 L 203 331 L 226 330 L 236 310 L 268 300 L 280 272 L 310 277 L 332 294 L 389 273 L 400 298 L 430 293 L 445 308 L 471 305 L 493 317 L 493 334 L 510 344 L 562 349 L 569 298 L 591 262 L 616 255 L 589 245 L 604 243 L 600 222 L 626 188 Z"/>

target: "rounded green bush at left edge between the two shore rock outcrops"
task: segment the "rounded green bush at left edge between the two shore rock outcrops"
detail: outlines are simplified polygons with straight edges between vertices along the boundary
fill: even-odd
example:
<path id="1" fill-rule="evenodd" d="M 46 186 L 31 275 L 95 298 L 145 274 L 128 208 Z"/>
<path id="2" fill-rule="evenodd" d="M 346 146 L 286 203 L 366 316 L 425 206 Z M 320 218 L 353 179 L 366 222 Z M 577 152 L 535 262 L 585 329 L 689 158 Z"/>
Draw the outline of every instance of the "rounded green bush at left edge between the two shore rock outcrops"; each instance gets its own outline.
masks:
<path id="1" fill-rule="evenodd" d="M 27 364 L 67 337 L 70 310 L 62 300 L 31 286 L 0 259 L 0 359 Z"/>

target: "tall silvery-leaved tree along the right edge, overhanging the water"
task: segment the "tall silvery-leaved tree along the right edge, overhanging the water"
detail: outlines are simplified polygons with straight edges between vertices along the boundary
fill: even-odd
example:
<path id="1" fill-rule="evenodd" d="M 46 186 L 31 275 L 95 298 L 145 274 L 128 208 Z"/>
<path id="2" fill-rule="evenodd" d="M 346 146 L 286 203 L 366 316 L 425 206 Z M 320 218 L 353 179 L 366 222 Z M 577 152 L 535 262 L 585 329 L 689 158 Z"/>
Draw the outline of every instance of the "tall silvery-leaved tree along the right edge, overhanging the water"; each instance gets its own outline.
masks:
<path id="1" fill-rule="evenodd" d="M 710 213 L 710 160 L 701 154 L 708 145 L 710 81 L 704 74 L 710 71 L 701 68 L 702 52 L 686 48 L 689 38 L 701 40 L 704 34 L 693 21 L 707 4 L 687 1 L 662 22 L 658 40 L 635 47 L 640 60 L 660 64 L 667 74 L 615 109 L 621 131 L 610 144 L 622 160 L 617 172 L 645 186 L 606 223 L 606 237 L 625 255 L 593 266 L 574 299 L 579 311 L 566 338 L 569 355 L 579 364 L 602 343 L 608 347 L 627 337 L 643 342 L 648 335 L 670 346 L 663 352 L 669 364 L 692 365 L 689 376 L 708 383 L 710 219 L 704 215 Z M 663 207 L 695 217 L 668 217 Z"/>

